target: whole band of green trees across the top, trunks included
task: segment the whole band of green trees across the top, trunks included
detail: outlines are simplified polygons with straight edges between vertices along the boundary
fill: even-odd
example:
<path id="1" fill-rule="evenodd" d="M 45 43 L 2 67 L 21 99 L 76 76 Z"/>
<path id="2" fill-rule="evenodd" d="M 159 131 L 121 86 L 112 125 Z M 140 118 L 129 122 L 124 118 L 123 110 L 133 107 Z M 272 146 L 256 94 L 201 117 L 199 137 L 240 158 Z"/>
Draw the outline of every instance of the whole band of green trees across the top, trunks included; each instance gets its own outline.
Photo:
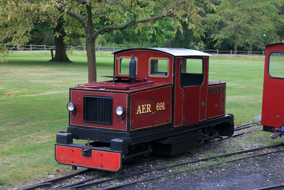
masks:
<path id="1" fill-rule="evenodd" d="M 262 51 L 284 39 L 284 0 L 1 0 L 5 44 L 83 45 L 96 81 L 95 45 Z"/>

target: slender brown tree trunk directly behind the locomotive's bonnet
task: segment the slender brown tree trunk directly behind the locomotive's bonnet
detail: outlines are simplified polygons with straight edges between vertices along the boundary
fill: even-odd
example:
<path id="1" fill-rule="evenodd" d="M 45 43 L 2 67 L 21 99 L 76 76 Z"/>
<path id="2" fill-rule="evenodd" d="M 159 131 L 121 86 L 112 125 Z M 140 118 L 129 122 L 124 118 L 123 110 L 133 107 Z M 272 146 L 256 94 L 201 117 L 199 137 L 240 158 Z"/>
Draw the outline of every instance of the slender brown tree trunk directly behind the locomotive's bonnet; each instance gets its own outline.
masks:
<path id="1" fill-rule="evenodd" d="M 95 37 L 86 38 L 86 51 L 88 60 L 88 81 L 96 82 Z"/>

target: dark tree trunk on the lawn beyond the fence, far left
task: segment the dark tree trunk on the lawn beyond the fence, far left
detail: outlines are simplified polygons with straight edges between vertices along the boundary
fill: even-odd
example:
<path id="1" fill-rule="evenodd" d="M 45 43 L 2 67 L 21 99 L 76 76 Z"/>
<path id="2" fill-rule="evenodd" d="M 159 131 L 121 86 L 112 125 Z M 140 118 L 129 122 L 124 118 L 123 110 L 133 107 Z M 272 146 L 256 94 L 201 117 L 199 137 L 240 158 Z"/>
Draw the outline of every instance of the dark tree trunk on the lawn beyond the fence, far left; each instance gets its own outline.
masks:
<path id="1" fill-rule="evenodd" d="M 53 32 L 58 32 L 59 37 L 54 36 L 55 41 L 55 56 L 51 61 L 54 62 L 71 62 L 66 54 L 66 46 L 64 43 L 64 37 L 66 33 L 62 27 L 62 23 L 59 22 L 57 26 L 53 29 Z"/>

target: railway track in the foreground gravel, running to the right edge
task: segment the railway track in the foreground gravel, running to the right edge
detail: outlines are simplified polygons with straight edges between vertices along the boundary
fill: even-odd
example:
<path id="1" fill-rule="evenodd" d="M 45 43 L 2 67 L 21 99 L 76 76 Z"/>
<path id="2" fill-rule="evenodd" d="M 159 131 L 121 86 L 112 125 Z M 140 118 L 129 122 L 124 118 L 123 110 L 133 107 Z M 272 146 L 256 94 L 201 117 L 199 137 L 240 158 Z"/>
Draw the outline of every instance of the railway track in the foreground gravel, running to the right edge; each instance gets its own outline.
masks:
<path id="1" fill-rule="evenodd" d="M 258 156 L 263 156 L 263 155 L 267 155 L 267 154 L 273 154 L 273 153 L 277 153 L 277 152 L 282 152 L 284 151 L 284 149 L 278 149 L 278 150 L 274 150 L 274 151 L 266 151 L 265 153 L 258 153 L 258 154 L 254 154 L 254 155 L 249 155 L 249 156 L 244 156 L 244 157 L 239 157 L 239 158 L 234 158 L 234 159 L 229 159 L 223 162 L 216 162 L 216 163 L 209 163 L 209 164 L 205 164 L 203 166 L 191 166 L 189 169 L 183 169 L 180 171 L 176 171 L 176 172 L 168 172 L 168 169 L 172 169 L 172 168 L 177 168 L 179 166 L 185 166 L 185 165 L 189 165 L 189 164 L 193 164 L 193 163 L 201 163 L 206 162 L 206 161 L 212 161 L 214 162 L 214 160 L 218 159 L 218 158 L 223 158 L 223 157 L 230 157 L 233 155 L 240 155 L 240 154 L 244 154 L 244 153 L 251 153 L 251 152 L 255 152 L 255 151 L 260 151 L 263 149 L 269 149 L 269 148 L 276 148 L 276 147 L 281 147 L 284 146 L 284 143 L 279 143 L 279 144 L 275 144 L 275 145 L 270 145 L 270 146 L 262 146 L 262 147 L 258 147 L 258 148 L 252 148 L 252 149 L 247 149 L 247 150 L 242 150 L 242 151 L 237 151 L 237 152 L 232 152 L 232 153 L 227 153 L 227 154 L 221 154 L 221 155 L 217 155 L 217 156 L 212 156 L 212 157 L 208 157 L 208 158 L 202 158 L 202 159 L 197 159 L 197 160 L 193 160 L 193 161 L 189 161 L 189 162 L 184 162 L 184 163 L 176 163 L 176 164 L 171 164 L 171 165 L 167 165 L 167 166 L 162 166 L 162 167 L 156 167 L 153 169 L 149 169 L 149 170 L 144 170 L 144 171 L 140 171 L 140 172 L 134 172 L 134 173 L 130 173 L 127 175 L 116 175 L 114 173 L 111 172 L 103 172 L 100 175 L 96 175 L 94 177 L 91 177 L 89 179 L 80 181 L 80 182 L 76 182 L 70 185 L 56 185 L 56 182 L 61 182 L 62 179 L 54 179 L 54 180 L 49 180 L 45 183 L 42 184 L 38 184 L 38 185 L 33 185 L 30 187 L 25 187 L 19 190 L 35 190 L 35 189 L 47 189 L 47 190 L 67 190 L 67 189 L 71 189 L 71 190 L 84 190 L 84 189 L 88 189 L 88 188 L 97 188 L 99 189 L 99 185 L 103 184 L 103 183 L 108 183 L 108 184 L 113 184 L 111 187 L 107 187 L 104 188 L 105 190 L 110 190 L 110 189 L 116 189 L 116 188 L 121 188 L 121 187 L 125 187 L 125 186 L 129 186 L 129 185 L 133 185 L 133 184 L 137 184 L 137 183 L 142 183 L 148 180 L 155 180 L 158 178 L 162 178 L 162 177 L 166 177 L 169 175 L 177 175 L 180 173 L 184 173 L 184 172 L 190 172 L 193 170 L 197 170 L 197 169 L 202 169 L 205 167 L 210 167 L 210 166 L 217 166 L 223 163 L 231 163 L 231 162 L 236 162 L 239 160 L 243 160 L 243 159 L 248 159 L 248 158 L 253 158 L 253 157 L 258 157 Z M 170 171 L 172 171 L 170 169 Z M 161 170 L 166 170 L 163 171 L 162 175 L 155 175 L 153 177 L 150 178 L 145 178 L 142 175 L 146 174 L 146 173 L 159 173 L 159 171 Z M 88 170 L 84 170 L 81 172 L 81 174 L 87 173 L 89 172 Z M 70 175 L 69 177 L 74 177 L 76 175 L 81 175 L 80 173 L 75 173 L 73 175 Z M 64 176 L 66 179 L 67 177 Z M 103 179 L 102 179 L 103 178 Z M 122 183 L 119 185 L 116 185 L 118 183 L 119 180 L 124 180 L 124 179 L 137 179 L 137 180 L 133 180 L 131 182 L 128 183 Z M 95 181 L 94 181 L 95 180 Z M 47 187 L 48 186 L 48 187 Z M 105 185 L 103 185 L 102 187 L 105 187 Z"/>

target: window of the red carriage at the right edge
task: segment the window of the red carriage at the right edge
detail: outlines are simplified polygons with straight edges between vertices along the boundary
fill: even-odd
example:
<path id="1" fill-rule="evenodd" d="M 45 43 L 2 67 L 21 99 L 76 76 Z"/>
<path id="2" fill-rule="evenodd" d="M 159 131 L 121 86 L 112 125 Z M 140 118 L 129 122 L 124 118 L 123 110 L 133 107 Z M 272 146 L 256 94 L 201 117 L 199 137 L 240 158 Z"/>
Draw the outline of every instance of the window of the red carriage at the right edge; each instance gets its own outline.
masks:
<path id="1" fill-rule="evenodd" d="M 284 78 L 284 53 L 270 54 L 268 67 L 271 77 Z"/>

